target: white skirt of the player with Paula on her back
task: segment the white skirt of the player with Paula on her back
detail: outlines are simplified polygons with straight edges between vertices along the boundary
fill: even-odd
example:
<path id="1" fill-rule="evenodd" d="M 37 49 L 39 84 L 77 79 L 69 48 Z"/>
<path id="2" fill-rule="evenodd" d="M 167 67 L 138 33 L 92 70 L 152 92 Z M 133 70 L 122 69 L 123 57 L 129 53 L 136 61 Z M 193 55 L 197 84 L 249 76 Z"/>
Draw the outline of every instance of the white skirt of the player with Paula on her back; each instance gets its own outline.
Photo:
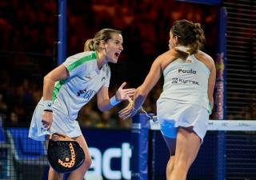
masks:
<path id="1" fill-rule="evenodd" d="M 201 138 L 206 135 L 209 113 L 206 108 L 194 104 L 174 102 L 172 99 L 159 98 L 157 116 L 162 134 L 168 138 L 176 138 L 178 126 L 192 126 L 195 134 Z"/>

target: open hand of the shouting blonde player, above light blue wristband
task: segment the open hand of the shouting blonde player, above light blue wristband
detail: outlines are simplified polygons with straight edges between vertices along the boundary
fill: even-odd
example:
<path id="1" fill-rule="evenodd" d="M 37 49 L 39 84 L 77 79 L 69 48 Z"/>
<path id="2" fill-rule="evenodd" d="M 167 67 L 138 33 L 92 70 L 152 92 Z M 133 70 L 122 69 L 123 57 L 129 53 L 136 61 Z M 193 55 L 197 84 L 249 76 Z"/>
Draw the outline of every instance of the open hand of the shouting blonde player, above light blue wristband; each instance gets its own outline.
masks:
<path id="1" fill-rule="evenodd" d="M 115 93 L 115 98 L 120 102 L 134 97 L 135 88 L 123 89 L 124 86 L 126 86 L 126 82 L 123 82 Z"/>

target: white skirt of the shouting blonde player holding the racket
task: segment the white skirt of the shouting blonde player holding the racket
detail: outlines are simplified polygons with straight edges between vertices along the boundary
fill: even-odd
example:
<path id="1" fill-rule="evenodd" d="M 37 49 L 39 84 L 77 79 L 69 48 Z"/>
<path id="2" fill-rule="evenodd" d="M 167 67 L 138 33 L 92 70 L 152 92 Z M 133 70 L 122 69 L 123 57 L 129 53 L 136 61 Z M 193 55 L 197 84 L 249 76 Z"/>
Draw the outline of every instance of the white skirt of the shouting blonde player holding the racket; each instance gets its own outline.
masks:
<path id="1" fill-rule="evenodd" d="M 37 141 L 45 141 L 47 134 L 53 134 L 58 132 L 60 134 L 66 134 L 70 138 L 75 138 L 82 135 L 82 131 L 76 120 L 70 120 L 65 114 L 54 110 L 53 123 L 50 130 L 46 130 L 42 126 L 42 112 L 43 106 L 38 104 L 34 110 L 32 121 L 30 123 L 29 138 L 33 138 Z"/>

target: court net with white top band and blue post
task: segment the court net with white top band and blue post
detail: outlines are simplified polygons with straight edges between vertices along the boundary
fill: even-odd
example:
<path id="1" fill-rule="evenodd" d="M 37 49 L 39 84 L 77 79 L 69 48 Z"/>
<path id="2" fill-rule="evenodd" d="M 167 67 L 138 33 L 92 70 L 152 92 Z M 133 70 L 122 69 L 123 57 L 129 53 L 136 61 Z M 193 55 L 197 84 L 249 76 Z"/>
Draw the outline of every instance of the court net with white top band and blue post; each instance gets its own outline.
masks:
<path id="1" fill-rule="evenodd" d="M 136 114 L 131 130 L 132 180 L 166 179 L 170 154 L 158 122 Z M 142 153 L 140 153 L 142 152 Z M 256 121 L 210 120 L 190 180 L 256 179 Z"/>

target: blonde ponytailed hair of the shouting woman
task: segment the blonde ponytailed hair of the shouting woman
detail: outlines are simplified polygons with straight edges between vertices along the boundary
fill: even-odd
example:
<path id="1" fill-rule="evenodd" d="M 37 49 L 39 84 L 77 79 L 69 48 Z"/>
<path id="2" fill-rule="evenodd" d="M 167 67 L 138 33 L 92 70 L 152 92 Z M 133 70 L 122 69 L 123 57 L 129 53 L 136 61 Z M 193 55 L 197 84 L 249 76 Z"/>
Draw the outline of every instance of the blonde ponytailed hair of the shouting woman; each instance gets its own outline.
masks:
<path id="1" fill-rule="evenodd" d="M 114 29 L 102 29 L 98 31 L 94 38 L 90 38 L 86 41 L 84 46 L 84 51 L 98 51 L 100 41 L 107 42 L 110 38 L 112 38 L 112 34 L 122 34 L 120 30 Z"/>

